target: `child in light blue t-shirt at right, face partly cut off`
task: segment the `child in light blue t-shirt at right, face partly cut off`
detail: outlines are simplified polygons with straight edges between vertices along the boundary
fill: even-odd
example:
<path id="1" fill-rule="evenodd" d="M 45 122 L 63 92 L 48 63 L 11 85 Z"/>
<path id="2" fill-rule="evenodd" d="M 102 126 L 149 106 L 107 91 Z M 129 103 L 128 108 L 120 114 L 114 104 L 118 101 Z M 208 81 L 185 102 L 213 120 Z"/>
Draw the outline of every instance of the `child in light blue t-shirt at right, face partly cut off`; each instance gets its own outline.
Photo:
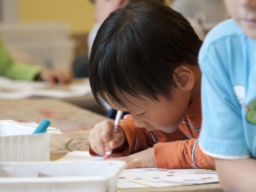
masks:
<path id="1" fill-rule="evenodd" d="M 256 0 L 225 0 L 232 19 L 207 35 L 202 69 L 202 150 L 226 191 L 256 189 Z M 218 74 L 218 75 L 216 75 Z"/>

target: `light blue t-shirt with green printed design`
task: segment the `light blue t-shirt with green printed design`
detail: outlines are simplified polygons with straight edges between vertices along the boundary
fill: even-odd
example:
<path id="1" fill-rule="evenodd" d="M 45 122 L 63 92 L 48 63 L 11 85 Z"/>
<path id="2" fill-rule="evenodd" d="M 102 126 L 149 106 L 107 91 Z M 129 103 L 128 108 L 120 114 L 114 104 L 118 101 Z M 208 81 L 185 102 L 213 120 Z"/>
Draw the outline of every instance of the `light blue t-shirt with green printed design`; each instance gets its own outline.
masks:
<path id="1" fill-rule="evenodd" d="M 199 52 L 204 153 L 221 159 L 256 158 L 255 40 L 233 19 L 213 28 Z"/>

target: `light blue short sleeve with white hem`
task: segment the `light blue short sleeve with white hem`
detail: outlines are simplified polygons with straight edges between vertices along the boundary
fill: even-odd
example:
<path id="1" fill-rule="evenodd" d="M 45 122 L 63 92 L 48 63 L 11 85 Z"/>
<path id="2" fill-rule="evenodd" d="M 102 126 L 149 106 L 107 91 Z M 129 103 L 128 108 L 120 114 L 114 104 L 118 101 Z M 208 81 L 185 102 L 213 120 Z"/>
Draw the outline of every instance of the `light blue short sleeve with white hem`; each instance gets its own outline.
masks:
<path id="1" fill-rule="evenodd" d="M 248 158 L 241 106 L 228 73 L 234 66 L 229 64 L 226 49 L 227 45 L 219 41 L 208 50 L 201 48 L 199 54 L 203 116 L 200 147 L 215 158 Z"/>

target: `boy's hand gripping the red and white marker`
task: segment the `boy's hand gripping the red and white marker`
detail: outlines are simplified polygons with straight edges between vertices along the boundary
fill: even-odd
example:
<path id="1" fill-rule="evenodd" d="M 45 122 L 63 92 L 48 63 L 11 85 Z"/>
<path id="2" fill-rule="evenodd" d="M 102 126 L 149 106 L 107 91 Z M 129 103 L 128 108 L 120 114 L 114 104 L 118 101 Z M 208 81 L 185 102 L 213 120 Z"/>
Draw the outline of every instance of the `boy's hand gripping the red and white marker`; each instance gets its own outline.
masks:
<path id="1" fill-rule="evenodd" d="M 119 127 L 115 137 L 112 138 L 112 132 L 114 129 L 114 122 L 103 121 L 94 125 L 93 129 L 89 133 L 90 148 L 97 154 L 104 156 L 109 149 L 116 149 L 117 151 L 123 151 L 125 146 L 125 135 L 123 130 Z M 108 144 L 104 146 L 104 144 Z"/>

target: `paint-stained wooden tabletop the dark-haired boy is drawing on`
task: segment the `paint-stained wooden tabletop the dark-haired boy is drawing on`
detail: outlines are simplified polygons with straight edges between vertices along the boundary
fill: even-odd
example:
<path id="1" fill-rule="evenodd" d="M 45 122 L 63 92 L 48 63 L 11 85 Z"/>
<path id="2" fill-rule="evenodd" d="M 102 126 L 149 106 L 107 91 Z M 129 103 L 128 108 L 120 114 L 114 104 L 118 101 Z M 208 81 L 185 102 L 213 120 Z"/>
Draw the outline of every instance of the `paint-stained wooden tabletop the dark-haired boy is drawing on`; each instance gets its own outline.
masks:
<path id="1" fill-rule="evenodd" d="M 64 134 L 52 134 L 51 160 L 57 160 L 75 150 L 88 150 L 87 136 L 94 124 L 106 120 L 105 116 L 56 99 L 0 100 L 0 120 L 12 119 L 18 122 L 36 121 L 43 118 Z M 118 192 L 220 192 L 220 184 L 204 184 L 167 188 L 121 189 Z"/>

